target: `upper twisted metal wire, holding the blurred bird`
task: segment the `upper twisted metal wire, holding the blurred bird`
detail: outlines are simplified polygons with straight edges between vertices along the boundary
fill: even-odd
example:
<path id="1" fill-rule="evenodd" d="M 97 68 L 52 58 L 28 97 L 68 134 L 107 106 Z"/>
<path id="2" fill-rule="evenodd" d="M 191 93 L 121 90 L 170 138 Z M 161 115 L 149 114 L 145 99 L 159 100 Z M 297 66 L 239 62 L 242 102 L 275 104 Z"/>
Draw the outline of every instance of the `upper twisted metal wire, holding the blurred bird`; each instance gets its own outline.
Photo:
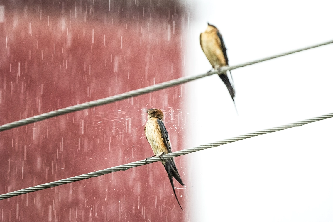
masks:
<path id="1" fill-rule="evenodd" d="M 298 50 L 293 50 L 293 51 L 290 51 L 290 52 L 278 54 L 278 55 L 275 55 L 275 56 L 267 57 L 267 58 L 264 58 L 264 59 L 254 60 L 252 62 L 247 62 L 247 63 L 243 63 L 243 64 L 236 65 L 236 66 L 229 66 L 229 67 L 226 66 L 226 67 L 220 68 L 219 70 L 213 70 L 213 71 L 210 71 L 210 72 L 207 72 L 207 73 L 204 73 L 204 74 L 200 74 L 200 75 L 196 75 L 196 76 L 181 77 L 179 79 L 170 80 L 170 81 L 167 81 L 167 82 L 164 82 L 164 83 L 156 84 L 156 85 L 153 85 L 153 86 L 148 86 L 148 87 L 141 88 L 141 89 L 138 89 L 138 90 L 133 90 L 133 91 L 123 93 L 123 94 L 119 94 L 119 95 L 116 95 L 116 96 L 111 96 L 111 97 L 107 97 L 107 98 L 104 98 L 104 99 L 99 99 L 99 100 L 95 100 L 95 101 L 91 101 L 91 102 L 87 102 L 87 103 L 83 103 L 83 104 L 78 104 L 78 105 L 75 105 L 75 106 L 70 106 L 70 107 L 66 107 L 66 108 L 51 111 L 51 112 L 46 112 L 46 113 L 43 113 L 43 114 L 40 114 L 40 115 L 35 115 L 33 117 L 29 117 L 29 118 L 25 118 L 25 119 L 21 119 L 21 120 L 15 121 L 15 122 L 11 122 L 11 123 L 1 125 L 0 126 L 0 131 L 15 128 L 15 127 L 26 125 L 26 124 L 33 123 L 33 122 L 42 121 L 44 119 L 48 119 L 48 118 L 52 118 L 52 117 L 55 117 L 55 116 L 67 114 L 67 113 L 70 113 L 70 112 L 85 110 L 85 109 L 88 109 L 88 108 L 102 106 L 102 105 L 109 104 L 109 103 L 114 103 L 114 102 L 117 102 L 117 101 L 120 101 L 120 100 L 125 100 L 125 99 L 131 98 L 131 97 L 137 97 L 137 96 L 140 96 L 140 95 L 143 95 L 143 94 L 146 94 L 146 93 L 155 92 L 155 91 L 158 91 L 158 90 L 162 90 L 162 89 L 166 89 L 166 88 L 169 88 L 169 87 L 184 84 L 184 83 L 196 80 L 196 79 L 200 79 L 200 78 L 203 78 L 203 77 L 206 77 L 206 76 L 211 76 L 213 74 L 225 72 L 227 70 L 233 70 L 233 69 L 237 69 L 237 68 L 240 68 L 240 67 L 252 65 L 252 64 L 255 64 L 255 63 L 264 62 L 264 61 L 275 59 L 275 58 L 278 58 L 278 57 L 281 57 L 281 56 L 286 56 L 286 55 L 289 55 L 289 54 L 293 54 L 293 53 L 296 53 L 296 52 L 301 52 L 301 51 L 316 48 L 316 47 L 319 47 L 319 46 L 328 45 L 328 44 L 331 44 L 331 43 L 333 43 L 333 40 L 328 41 L 328 42 L 323 42 L 323 43 L 313 45 L 313 46 L 308 46 L 308 47 L 301 48 L 301 49 L 298 49 Z"/>

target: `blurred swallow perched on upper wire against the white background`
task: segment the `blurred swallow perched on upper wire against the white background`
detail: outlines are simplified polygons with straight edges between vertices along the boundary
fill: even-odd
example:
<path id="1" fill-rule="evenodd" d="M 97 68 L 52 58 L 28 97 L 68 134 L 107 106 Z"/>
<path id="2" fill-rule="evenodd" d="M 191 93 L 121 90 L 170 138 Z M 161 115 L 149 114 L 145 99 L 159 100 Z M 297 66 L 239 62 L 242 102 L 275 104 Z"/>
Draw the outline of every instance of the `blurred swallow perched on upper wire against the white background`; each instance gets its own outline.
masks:
<path id="1" fill-rule="evenodd" d="M 222 66 L 228 66 L 228 57 L 227 49 L 225 48 L 222 35 L 218 29 L 208 23 L 208 27 L 205 32 L 200 34 L 200 45 L 202 51 L 206 55 L 208 61 L 212 65 L 213 69 L 219 69 Z M 229 94 L 232 98 L 233 103 L 235 104 L 235 89 L 233 84 L 230 83 L 230 80 L 227 76 L 227 73 L 220 73 L 218 75 L 223 83 L 226 85 Z M 230 72 L 231 76 L 231 72 Z M 232 78 L 232 76 L 231 76 Z"/>

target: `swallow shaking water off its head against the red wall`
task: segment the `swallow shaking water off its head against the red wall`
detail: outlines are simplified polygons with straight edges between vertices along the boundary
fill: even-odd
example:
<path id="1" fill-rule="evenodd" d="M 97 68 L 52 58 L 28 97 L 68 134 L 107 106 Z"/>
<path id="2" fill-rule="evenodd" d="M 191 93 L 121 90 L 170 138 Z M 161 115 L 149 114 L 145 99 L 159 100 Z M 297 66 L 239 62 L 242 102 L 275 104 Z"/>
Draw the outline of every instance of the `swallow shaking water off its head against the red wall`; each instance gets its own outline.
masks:
<path id="1" fill-rule="evenodd" d="M 162 160 L 163 154 L 171 153 L 171 144 L 169 140 L 169 135 L 166 131 L 166 127 L 164 126 L 163 122 L 164 114 L 161 110 L 155 108 L 147 110 L 147 113 L 148 113 L 147 116 L 148 120 L 145 126 L 146 138 L 149 144 L 151 145 L 155 156 L 161 158 L 161 162 L 164 165 L 166 173 L 169 177 L 174 196 L 176 197 L 176 200 L 180 206 L 176 192 L 174 191 L 172 177 L 175 178 L 178 181 L 178 183 L 180 183 L 183 186 L 184 183 L 179 176 L 173 158 Z M 183 209 L 181 206 L 180 208 Z"/>

